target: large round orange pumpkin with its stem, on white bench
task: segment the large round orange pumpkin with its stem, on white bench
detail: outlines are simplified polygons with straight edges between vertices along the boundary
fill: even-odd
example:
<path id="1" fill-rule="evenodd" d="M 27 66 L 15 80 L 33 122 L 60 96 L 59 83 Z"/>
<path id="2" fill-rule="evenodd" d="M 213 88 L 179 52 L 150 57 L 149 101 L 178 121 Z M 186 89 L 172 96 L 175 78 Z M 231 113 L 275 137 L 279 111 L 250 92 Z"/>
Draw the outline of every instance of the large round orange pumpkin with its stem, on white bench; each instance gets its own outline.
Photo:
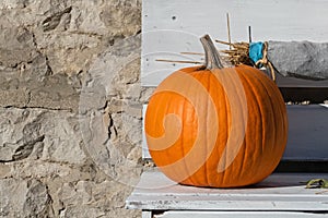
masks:
<path id="1" fill-rule="evenodd" d="M 274 170 L 285 148 L 284 100 L 261 71 L 223 68 L 210 37 L 201 43 L 206 64 L 174 72 L 149 101 L 144 130 L 150 154 L 180 184 L 257 183 Z"/>

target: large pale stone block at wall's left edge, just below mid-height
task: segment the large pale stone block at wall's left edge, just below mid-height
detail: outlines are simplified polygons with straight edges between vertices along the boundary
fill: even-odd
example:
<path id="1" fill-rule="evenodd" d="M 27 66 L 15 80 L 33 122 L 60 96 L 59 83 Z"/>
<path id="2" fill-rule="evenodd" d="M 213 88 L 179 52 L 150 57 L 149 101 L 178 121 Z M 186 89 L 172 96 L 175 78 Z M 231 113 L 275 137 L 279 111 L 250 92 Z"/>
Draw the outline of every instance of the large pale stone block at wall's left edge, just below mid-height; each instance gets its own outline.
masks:
<path id="1" fill-rule="evenodd" d="M 83 164 L 73 114 L 46 109 L 0 109 L 0 162 L 43 159 Z"/>

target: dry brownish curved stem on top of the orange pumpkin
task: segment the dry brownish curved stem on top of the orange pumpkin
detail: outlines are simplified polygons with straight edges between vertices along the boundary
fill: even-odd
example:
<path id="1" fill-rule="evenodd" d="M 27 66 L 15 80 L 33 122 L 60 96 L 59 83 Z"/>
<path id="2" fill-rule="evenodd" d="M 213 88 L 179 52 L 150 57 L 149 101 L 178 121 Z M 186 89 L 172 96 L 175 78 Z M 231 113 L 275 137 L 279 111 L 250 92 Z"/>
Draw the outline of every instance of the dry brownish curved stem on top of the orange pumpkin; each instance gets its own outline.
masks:
<path id="1" fill-rule="evenodd" d="M 200 41 L 203 46 L 206 53 L 206 68 L 208 70 L 212 69 L 223 69 L 223 65 L 220 61 L 220 55 L 211 39 L 211 37 L 207 34 L 200 38 Z"/>

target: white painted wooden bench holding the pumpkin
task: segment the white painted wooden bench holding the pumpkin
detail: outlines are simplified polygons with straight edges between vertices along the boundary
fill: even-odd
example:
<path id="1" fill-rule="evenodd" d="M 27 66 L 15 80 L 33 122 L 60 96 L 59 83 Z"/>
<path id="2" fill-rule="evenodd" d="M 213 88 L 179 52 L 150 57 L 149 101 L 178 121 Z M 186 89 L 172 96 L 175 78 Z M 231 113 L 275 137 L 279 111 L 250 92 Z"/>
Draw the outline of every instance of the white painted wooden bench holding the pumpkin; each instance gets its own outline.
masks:
<path id="1" fill-rule="evenodd" d="M 227 1 L 143 0 L 142 86 L 154 87 L 183 63 L 155 59 L 199 61 L 183 51 L 202 52 L 198 38 L 208 33 L 226 39 L 226 13 L 234 41 L 328 41 L 328 0 Z M 292 9 L 293 8 L 293 9 Z M 188 64 L 187 64 L 188 65 Z M 285 101 L 314 105 L 288 106 L 289 142 L 276 172 L 245 189 L 200 189 L 179 185 L 156 169 L 142 173 L 126 201 L 143 218 L 214 217 L 328 217 L 328 191 L 305 189 L 309 179 L 328 179 L 328 81 L 278 76 Z M 145 110 L 145 107 L 144 107 Z M 150 158 L 144 146 L 143 158 Z"/>

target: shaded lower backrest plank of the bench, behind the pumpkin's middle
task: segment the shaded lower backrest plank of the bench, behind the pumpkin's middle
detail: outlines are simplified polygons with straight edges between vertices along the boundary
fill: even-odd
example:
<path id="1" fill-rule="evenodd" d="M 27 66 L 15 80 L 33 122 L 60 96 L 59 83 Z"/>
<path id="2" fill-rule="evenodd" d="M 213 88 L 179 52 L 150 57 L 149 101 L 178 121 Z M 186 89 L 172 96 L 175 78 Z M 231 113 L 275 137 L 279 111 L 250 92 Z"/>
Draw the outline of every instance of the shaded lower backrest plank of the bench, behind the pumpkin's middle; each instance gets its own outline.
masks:
<path id="1" fill-rule="evenodd" d="M 145 110 L 147 105 L 143 106 L 144 114 Z M 328 106 L 288 106 L 288 116 L 289 140 L 283 159 L 328 160 Z M 142 157 L 151 158 L 142 132 Z"/>

